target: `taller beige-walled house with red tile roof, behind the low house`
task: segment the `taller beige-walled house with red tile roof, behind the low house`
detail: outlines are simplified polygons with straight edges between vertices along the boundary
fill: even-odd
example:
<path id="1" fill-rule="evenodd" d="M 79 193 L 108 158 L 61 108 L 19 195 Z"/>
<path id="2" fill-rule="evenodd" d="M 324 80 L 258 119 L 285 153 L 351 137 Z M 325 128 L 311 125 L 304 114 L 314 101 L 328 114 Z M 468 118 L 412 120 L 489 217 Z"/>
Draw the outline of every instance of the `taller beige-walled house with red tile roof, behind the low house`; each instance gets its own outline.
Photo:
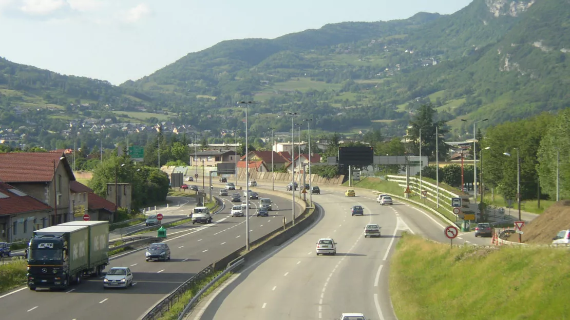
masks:
<path id="1" fill-rule="evenodd" d="M 63 150 L 0 153 L 0 180 L 52 207 L 49 225 L 73 220 L 70 182 L 75 176 Z"/>

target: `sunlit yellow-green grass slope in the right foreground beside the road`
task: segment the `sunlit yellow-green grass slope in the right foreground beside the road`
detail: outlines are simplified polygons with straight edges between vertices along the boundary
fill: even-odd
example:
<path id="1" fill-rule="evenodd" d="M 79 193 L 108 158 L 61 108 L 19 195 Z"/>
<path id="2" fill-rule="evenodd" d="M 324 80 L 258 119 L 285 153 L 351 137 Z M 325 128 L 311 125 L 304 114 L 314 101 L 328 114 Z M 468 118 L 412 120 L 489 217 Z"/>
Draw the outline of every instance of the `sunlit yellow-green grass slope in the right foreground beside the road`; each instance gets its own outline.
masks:
<path id="1" fill-rule="evenodd" d="M 570 311 L 568 251 L 449 247 L 406 233 L 390 263 L 400 320 L 560 319 Z M 413 293 L 413 294 L 410 294 Z"/>

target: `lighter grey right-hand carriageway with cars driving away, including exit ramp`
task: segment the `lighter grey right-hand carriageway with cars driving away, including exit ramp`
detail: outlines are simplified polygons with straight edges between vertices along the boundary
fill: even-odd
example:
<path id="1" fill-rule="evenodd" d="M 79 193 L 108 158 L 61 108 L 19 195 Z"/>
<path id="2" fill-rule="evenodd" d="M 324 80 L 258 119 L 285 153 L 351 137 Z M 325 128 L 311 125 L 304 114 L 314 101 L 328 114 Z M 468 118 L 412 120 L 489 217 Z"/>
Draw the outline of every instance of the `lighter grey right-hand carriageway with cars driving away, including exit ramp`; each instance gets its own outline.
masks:
<path id="1" fill-rule="evenodd" d="M 380 206 L 372 192 L 357 191 L 355 198 L 345 198 L 335 188 L 323 186 L 321 191 L 313 200 L 324 215 L 314 228 L 262 263 L 246 266 L 209 305 L 198 306 L 187 319 L 338 319 L 345 312 L 396 319 L 388 292 L 394 245 L 402 231 L 449 243 L 445 225 L 400 202 Z M 356 204 L 364 207 L 364 216 L 351 216 Z M 382 236 L 364 238 L 367 223 L 379 224 Z M 337 242 L 336 256 L 316 256 L 321 237 Z M 461 238 L 454 243 L 490 243 L 469 235 Z"/>

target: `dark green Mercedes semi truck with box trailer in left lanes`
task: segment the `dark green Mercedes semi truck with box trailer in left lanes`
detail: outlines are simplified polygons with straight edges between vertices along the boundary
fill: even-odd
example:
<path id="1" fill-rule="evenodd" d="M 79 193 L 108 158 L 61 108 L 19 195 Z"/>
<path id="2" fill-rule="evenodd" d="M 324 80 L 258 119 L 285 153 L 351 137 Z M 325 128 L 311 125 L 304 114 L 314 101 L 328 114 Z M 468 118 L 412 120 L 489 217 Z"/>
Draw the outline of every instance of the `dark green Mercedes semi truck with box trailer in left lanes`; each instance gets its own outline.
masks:
<path id="1" fill-rule="evenodd" d="M 101 274 L 108 257 L 108 221 L 73 221 L 34 231 L 26 252 L 27 285 L 66 289 Z"/>

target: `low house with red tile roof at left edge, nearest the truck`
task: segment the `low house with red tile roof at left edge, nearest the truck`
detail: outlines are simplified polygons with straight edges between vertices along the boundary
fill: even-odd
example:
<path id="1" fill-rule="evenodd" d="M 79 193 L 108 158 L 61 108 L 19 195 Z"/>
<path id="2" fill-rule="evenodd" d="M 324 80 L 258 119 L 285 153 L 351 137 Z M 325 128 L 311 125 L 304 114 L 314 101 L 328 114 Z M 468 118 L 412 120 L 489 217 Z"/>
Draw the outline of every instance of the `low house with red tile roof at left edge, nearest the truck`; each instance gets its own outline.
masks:
<path id="1" fill-rule="evenodd" d="M 52 208 L 26 192 L 0 181 L 0 241 L 30 239 L 47 227 Z"/>

